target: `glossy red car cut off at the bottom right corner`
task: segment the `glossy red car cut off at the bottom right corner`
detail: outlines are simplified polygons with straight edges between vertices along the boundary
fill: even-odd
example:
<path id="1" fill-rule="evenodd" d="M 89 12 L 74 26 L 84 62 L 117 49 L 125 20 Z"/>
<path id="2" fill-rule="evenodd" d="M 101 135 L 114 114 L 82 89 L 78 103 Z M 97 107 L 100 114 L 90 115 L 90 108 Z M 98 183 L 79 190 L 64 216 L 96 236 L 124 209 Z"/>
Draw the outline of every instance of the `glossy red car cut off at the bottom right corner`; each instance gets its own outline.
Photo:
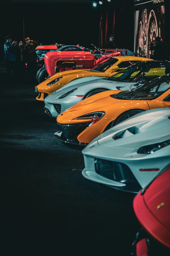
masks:
<path id="1" fill-rule="evenodd" d="M 132 255 L 170 255 L 169 166 L 135 196 L 134 211 L 143 230 L 137 233 Z"/>

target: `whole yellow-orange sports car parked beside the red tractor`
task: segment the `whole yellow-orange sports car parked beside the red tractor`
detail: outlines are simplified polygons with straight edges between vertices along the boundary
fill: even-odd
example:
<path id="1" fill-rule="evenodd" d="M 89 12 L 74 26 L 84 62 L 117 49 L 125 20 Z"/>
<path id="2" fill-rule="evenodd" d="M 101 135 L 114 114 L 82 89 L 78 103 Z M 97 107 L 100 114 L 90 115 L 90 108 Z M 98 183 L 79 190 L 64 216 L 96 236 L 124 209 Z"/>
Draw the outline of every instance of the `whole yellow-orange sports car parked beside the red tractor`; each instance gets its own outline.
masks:
<path id="1" fill-rule="evenodd" d="M 91 77 L 93 79 L 92 77 L 110 77 L 138 61 L 145 60 L 151 59 L 135 56 L 119 56 L 107 59 L 91 70 L 77 69 L 57 73 L 35 87 L 35 92 L 39 93 L 36 99 L 44 101 L 46 96 L 77 78 Z"/>

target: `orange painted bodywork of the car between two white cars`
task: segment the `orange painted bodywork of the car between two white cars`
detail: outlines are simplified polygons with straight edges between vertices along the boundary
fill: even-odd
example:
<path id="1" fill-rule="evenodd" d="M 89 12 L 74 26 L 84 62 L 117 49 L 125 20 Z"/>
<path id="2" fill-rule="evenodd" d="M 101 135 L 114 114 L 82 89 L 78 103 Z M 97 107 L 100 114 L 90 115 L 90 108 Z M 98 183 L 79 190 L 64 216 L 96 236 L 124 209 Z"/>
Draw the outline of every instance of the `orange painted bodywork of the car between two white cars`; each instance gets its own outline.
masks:
<path id="1" fill-rule="evenodd" d="M 169 74 L 164 78 L 168 80 Z M 156 79 L 156 82 L 158 81 L 160 81 L 159 78 Z M 164 99 L 170 94 L 170 89 L 163 92 L 159 97 L 153 100 L 128 100 L 110 97 L 110 95 L 117 94 L 119 92 L 120 91 L 106 91 L 84 99 L 60 114 L 57 117 L 57 122 L 64 125 L 78 124 L 81 122 L 85 123 L 89 120 L 75 118 L 96 111 L 104 111 L 104 117 L 102 117 L 97 123 L 85 128 L 77 137 L 80 143 L 90 143 L 105 130 L 110 122 L 116 120 L 116 118 L 125 111 L 133 109 L 145 111 L 155 108 L 170 107 L 170 102 L 164 101 Z"/>

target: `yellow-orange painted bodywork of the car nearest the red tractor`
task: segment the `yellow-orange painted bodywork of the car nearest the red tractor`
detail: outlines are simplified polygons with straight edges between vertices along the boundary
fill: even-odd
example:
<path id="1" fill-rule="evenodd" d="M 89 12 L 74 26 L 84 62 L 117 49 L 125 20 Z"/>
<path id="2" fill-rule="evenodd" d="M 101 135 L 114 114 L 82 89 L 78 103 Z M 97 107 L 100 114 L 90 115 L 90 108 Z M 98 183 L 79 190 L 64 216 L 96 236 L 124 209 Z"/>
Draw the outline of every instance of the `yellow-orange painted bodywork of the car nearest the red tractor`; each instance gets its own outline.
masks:
<path id="1" fill-rule="evenodd" d="M 81 77 L 110 77 L 113 76 L 116 71 L 118 70 L 118 65 L 121 62 L 124 61 L 144 61 L 144 60 L 149 60 L 146 58 L 141 58 L 141 57 L 134 57 L 134 56 L 119 56 L 119 57 L 114 57 L 115 59 L 117 59 L 118 61 L 113 64 L 111 67 L 109 67 L 108 69 L 106 69 L 105 72 L 94 72 L 91 71 L 89 72 L 89 69 L 83 69 L 83 70 L 69 70 L 69 71 L 63 71 L 60 73 L 57 73 L 55 75 L 53 75 L 52 77 L 48 78 L 47 80 L 43 81 L 42 83 L 40 83 L 39 85 L 37 85 L 37 91 L 40 92 L 41 94 L 39 94 L 39 96 L 36 97 L 37 100 L 41 100 L 44 101 L 44 93 L 47 93 L 48 95 L 50 95 L 51 93 L 57 91 L 58 89 L 62 88 L 64 85 L 68 84 L 69 82 L 81 78 Z M 109 59 L 107 59 L 109 60 Z M 105 61 L 107 61 L 105 60 Z M 48 83 L 52 80 L 54 80 L 55 78 L 59 78 L 62 77 L 61 80 L 59 80 L 58 82 L 56 82 L 53 85 L 48 86 Z"/>

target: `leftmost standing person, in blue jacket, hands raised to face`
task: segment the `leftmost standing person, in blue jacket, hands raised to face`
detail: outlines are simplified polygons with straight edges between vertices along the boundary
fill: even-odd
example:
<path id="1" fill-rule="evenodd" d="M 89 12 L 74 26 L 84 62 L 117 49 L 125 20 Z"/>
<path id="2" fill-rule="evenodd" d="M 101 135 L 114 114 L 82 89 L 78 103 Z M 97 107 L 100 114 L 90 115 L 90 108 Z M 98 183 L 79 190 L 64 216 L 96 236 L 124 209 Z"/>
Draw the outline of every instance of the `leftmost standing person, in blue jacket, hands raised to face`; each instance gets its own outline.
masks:
<path id="1" fill-rule="evenodd" d="M 17 75 L 17 65 L 16 65 L 16 52 L 17 52 L 17 42 L 13 41 L 11 43 L 11 36 L 5 37 L 6 42 L 4 43 L 4 61 L 7 65 L 7 78 L 10 78 L 11 71 L 13 71 L 14 76 Z"/>

